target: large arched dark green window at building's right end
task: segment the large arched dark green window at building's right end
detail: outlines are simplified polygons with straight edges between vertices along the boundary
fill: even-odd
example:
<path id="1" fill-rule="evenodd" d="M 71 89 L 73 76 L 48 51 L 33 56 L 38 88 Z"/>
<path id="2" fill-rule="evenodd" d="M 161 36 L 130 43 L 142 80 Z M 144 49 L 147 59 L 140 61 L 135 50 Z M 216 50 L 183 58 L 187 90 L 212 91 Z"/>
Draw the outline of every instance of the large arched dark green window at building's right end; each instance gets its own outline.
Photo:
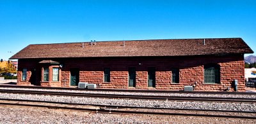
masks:
<path id="1" fill-rule="evenodd" d="M 204 83 L 220 83 L 220 65 L 204 65 Z"/>

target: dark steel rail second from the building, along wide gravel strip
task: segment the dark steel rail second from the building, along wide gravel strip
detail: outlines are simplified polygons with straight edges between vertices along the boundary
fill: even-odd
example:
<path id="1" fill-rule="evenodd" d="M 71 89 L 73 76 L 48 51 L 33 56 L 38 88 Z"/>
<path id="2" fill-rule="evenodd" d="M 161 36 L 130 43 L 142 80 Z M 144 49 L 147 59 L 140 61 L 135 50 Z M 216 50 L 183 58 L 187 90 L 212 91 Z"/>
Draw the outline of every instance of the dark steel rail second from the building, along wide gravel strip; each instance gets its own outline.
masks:
<path id="1" fill-rule="evenodd" d="M 179 101 L 207 101 L 207 102 L 252 102 L 256 99 L 252 98 L 230 98 L 230 97 L 181 97 L 181 96 L 150 96 L 150 95 L 117 95 L 102 93 L 71 93 L 71 92 L 42 92 L 33 90 L 0 90 L 0 93 L 19 93 L 32 95 L 57 95 L 68 97 L 93 97 L 108 99 L 147 99 L 147 100 L 179 100 Z"/>

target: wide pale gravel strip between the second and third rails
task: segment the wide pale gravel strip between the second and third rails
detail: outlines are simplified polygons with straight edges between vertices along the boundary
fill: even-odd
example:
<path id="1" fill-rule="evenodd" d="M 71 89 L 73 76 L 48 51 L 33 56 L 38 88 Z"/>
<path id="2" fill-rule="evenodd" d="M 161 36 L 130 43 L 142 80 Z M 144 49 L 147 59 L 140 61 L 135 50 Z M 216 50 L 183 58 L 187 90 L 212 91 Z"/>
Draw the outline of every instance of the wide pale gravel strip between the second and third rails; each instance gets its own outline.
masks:
<path id="1" fill-rule="evenodd" d="M 230 103 L 230 102 L 180 102 L 163 100 L 126 100 L 126 99 L 103 99 L 87 97 L 58 97 L 50 95 L 24 95 L 12 93 L 0 93 L 0 99 L 23 99 L 42 100 L 51 102 L 67 102 L 74 104 L 96 104 L 112 106 L 134 107 L 161 107 L 175 109 L 211 109 L 229 111 L 256 111 L 256 103 Z"/>

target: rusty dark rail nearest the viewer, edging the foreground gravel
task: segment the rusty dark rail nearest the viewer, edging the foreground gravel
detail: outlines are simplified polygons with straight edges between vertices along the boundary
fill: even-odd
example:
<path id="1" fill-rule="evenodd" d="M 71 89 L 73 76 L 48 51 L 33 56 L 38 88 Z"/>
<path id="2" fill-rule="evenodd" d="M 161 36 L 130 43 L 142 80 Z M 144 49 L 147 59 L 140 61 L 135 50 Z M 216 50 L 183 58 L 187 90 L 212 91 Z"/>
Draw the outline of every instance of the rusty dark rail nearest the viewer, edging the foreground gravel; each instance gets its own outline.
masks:
<path id="1" fill-rule="evenodd" d="M 205 117 L 216 117 L 216 118 L 244 118 L 244 119 L 256 119 L 255 116 L 230 116 L 230 115 L 218 115 L 218 114 L 188 114 L 188 113 L 161 113 L 161 112 L 147 112 L 147 111 L 127 111 L 127 110 L 113 110 L 113 109 L 88 109 L 79 107 L 61 107 L 61 106 L 46 106 L 46 105 L 35 105 L 35 104 L 18 104 L 18 103 L 3 103 L 2 105 L 9 106 L 29 106 L 29 107 L 47 107 L 54 109 L 69 109 L 76 111 L 91 111 L 95 113 L 120 113 L 120 114 L 161 114 L 161 115 L 177 115 L 177 116 L 205 116 Z"/>

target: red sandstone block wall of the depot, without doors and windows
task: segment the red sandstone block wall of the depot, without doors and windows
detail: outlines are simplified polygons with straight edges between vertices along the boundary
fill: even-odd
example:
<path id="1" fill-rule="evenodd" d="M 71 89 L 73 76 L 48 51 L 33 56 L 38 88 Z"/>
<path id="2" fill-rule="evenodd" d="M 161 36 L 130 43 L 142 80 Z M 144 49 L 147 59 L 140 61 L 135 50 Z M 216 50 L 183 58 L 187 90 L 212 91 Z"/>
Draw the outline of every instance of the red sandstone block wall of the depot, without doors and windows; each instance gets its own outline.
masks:
<path id="1" fill-rule="evenodd" d="M 18 85 L 29 85 L 21 81 L 22 68 L 36 68 L 36 81 L 42 86 L 70 86 L 70 69 L 79 69 L 79 81 L 96 83 L 100 88 L 129 88 L 128 68 L 136 68 L 136 88 L 148 88 L 147 69 L 156 67 L 156 89 L 184 90 L 185 85 L 197 82 L 195 90 L 223 91 L 239 82 L 238 90 L 244 91 L 243 55 L 207 55 L 184 57 L 103 57 L 86 59 L 52 59 L 63 64 L 58 82 L 51 81 L 52 65 L 38 64 L 41 60 L 19 60 Z M 204 65 L 220 65 L 220 84 L 204 83 Z M 49 82 L 42 81 L 42 67 L 49 67 Z M 110 69 L 110 82 L 103 82 L 104 67 Z M 171 69 L 179 68 L 179 83 L 172 83 Z M 38 76 L 39 75 L 39 76 Z"/>

